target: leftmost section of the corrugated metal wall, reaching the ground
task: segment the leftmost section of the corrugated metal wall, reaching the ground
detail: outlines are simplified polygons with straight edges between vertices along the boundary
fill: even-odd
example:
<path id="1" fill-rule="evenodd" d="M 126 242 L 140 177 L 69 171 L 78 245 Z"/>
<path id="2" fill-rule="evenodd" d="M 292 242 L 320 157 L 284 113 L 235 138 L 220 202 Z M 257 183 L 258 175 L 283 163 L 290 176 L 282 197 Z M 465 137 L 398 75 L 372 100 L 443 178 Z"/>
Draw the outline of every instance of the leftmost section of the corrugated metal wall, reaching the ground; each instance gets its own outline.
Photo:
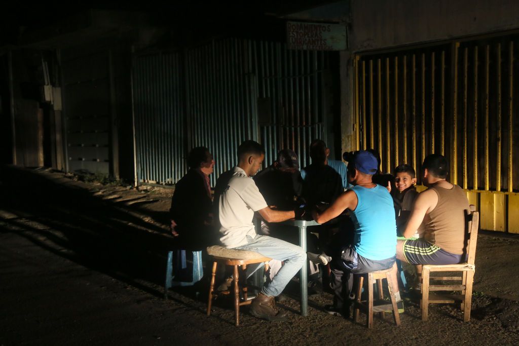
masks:
<path id="1" fill-rule="evenodd" d="M 184 95 L 179 53 L 135 57 L 133 104 L 140 182 L 174 184 L 186 172 Z"/>

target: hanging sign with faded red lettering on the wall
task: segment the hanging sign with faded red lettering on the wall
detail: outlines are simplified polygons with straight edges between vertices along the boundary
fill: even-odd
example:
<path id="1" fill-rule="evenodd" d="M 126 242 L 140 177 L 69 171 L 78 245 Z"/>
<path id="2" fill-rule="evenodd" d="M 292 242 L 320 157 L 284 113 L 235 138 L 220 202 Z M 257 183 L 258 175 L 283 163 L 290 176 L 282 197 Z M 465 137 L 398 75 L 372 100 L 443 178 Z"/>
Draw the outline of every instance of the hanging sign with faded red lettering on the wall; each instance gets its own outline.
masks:
<path id="1" fill-rule="evenodd" d="M 345 50 L 346 25 L 286 22 L 286 43 L 289 49 Z"/>

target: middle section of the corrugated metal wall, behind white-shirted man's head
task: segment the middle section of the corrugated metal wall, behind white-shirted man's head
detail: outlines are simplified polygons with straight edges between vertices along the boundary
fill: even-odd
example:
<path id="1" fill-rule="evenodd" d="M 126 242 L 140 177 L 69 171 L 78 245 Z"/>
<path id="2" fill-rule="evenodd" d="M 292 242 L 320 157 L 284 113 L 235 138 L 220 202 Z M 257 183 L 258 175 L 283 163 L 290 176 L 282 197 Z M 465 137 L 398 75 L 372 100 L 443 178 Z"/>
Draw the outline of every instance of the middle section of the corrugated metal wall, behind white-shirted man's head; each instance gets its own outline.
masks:
<path id="1" fill-rule="evenodd" d="M 258 140 L 251 48 L 250 41 L 225 39 L 187 52 L 189 148 L 210 148 L 216 161 L 213 185 L 237 163 L 240 143 Z"/>

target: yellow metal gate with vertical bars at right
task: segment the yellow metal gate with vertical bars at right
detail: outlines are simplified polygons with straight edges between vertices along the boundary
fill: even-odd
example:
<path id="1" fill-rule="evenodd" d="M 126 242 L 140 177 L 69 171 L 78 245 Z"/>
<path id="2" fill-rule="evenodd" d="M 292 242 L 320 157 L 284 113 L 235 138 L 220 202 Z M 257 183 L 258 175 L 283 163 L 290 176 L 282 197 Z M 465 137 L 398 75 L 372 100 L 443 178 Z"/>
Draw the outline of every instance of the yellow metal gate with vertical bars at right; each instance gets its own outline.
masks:
<path id="1" fill-rule="evenodd" d="M 445 155 L 482 229 L 519 233 L 518 46 L 514 34 L 357 54 L 354 146 L 418 177 L 426 155 Z"/>

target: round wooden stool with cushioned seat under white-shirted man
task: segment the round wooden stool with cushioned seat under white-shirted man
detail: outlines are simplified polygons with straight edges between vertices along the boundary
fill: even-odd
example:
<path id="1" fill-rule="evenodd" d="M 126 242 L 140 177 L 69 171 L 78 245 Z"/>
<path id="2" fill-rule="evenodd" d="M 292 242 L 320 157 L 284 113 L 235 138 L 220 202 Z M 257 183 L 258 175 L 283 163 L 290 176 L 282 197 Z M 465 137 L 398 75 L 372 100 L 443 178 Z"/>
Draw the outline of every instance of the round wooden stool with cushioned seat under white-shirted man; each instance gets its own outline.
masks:
<path id="1" fill-rule="evenodd" d="M 235 309 L 235 324 L 236 326 L 240 325 L 240 306 L 249 305 L 252 303 L 252 300 L 247 299 L 247 284 L 242 285 L 243 292 L 243 301 L 240 302 L 240 288 L 239 288 L 239 271 L 238 267 L 241 267 L 242 270 L 246 270 L 248 265 L 265 263 L 265 273 L 268 271 L 268 262 L 271 258 L 264 257 L 261 254 L 245 251 L 245 250 L 229 250 L 225 249 L 221 246 L 211 246 L 208 247 L 208 253 L 213 256 L 213 270 L 211 276 L 211 285 L 209 287 L 209 298 L 207 302 L 207 315 L 211 314 L 211 305 L 213 300 L 213 292 L 214 292 L 214 281 L 216 268 L 218 263 L 233 266 L 233 282 L 234 282 L 234 309 Z M 216 254 L 218 256 L 216 256 Z M 229 256 L 225 256 L 226 255 Z"/>

